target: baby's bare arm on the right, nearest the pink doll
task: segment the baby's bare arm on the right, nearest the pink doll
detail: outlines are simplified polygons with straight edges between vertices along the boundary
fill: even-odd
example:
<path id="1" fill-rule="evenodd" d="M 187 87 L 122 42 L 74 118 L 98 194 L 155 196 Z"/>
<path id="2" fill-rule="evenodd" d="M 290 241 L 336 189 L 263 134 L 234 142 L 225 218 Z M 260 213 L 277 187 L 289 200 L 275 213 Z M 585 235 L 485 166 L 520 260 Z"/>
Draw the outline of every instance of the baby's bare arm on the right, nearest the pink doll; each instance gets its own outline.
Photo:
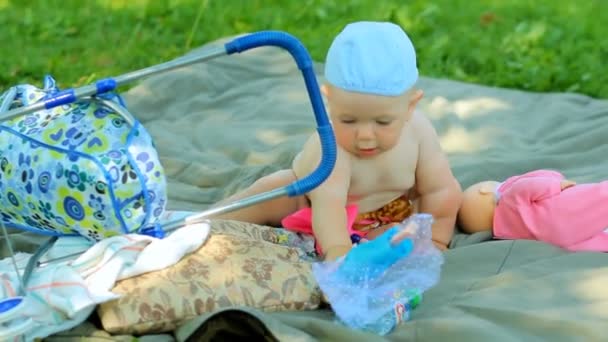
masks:
<path id="1" fill-rule="evenodd" d="M 449 161 L 441 149 L 431 122 L 419 113 L 414 120 L 420 134 L 416 167 L 419 212 L 433 215 L 433 242 L 444 250 L 454 235 L 462 190 L 452 175 Z"/>

